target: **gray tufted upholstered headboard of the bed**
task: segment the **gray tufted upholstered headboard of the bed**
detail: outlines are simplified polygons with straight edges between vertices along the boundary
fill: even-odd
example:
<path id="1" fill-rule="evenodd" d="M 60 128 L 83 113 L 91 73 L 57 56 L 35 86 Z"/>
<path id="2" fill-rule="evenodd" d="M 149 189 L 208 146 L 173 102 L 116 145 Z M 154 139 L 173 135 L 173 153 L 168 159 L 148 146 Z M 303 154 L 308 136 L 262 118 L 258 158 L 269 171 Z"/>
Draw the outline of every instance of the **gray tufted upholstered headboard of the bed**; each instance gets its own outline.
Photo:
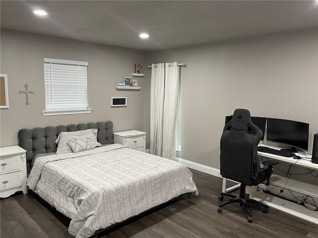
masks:
<path id="1" fill-rule="evenodd" d="M 19 146 L 26 150 L 26 161 L 29 163 L 36 154 L 56 152 L 57 144 L 55 141 L 62 131 L 77 131 L 92 128 L 98 129 L 97 141 L 100 144 L 114 143 L 113 122 L 107 121 L 20 129 L 18 132 Z"/>

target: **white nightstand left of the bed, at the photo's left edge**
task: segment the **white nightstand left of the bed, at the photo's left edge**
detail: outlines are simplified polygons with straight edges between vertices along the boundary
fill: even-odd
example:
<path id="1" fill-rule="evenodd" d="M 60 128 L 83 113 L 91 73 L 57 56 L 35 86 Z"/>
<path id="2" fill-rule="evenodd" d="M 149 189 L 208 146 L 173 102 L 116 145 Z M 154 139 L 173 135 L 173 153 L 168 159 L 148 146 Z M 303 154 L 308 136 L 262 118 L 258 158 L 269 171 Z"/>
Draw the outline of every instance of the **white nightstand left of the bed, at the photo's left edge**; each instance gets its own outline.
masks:
<path id="1" fill-rule="evenodd" d="M 28 192 L 25 152 L 17 145 L 0 148 L 0 197 L 8 197 L 16 191 Z"/>

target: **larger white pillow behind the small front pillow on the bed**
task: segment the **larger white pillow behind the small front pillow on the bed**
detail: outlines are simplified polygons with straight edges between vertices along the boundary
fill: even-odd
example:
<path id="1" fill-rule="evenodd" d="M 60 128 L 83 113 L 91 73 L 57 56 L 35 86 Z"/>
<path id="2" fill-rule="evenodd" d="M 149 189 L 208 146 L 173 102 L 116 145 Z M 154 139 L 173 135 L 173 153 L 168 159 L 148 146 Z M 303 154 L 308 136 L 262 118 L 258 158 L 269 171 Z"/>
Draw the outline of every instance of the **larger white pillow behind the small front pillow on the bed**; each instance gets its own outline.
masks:
<path id="1" fill-rule="evenodd" d="M 88 138 L 89 144 L 93 146 L 93 148 L 101 146 L 101 144 L 97 142 L 97 129 L 61 132 L 55 141 L 55 143 L 58 143 L 56 153 L 63 154 L 72 152 L 72 149 L 68 145 L 68 141 L 85 138 Z"/>

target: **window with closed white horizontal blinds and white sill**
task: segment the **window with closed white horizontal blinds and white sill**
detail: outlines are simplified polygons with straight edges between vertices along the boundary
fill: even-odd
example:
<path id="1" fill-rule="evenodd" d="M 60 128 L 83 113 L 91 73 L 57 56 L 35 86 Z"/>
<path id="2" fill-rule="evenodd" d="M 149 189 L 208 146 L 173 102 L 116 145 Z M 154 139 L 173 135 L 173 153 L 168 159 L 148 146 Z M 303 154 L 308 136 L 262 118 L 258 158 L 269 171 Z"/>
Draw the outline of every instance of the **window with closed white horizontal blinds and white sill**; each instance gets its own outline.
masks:
<path id="1" fill-rule="evenodd" d="M 85 61 L 44 58 L 44 116 L 90 113 Z"/>

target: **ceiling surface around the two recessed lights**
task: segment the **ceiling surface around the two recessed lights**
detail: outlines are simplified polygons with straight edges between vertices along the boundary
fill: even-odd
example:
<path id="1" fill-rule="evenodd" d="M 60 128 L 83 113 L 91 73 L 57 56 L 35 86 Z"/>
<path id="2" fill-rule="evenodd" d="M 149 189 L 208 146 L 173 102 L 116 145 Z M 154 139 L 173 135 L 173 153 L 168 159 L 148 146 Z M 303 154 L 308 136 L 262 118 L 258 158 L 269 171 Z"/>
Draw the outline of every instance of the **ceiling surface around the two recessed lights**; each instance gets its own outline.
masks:
<path id="1" fill-rule="evenodd" d="M 0 11 L 1 28 L 146 51 L 318 27 L 315 0 L 1 0 Z"/>

